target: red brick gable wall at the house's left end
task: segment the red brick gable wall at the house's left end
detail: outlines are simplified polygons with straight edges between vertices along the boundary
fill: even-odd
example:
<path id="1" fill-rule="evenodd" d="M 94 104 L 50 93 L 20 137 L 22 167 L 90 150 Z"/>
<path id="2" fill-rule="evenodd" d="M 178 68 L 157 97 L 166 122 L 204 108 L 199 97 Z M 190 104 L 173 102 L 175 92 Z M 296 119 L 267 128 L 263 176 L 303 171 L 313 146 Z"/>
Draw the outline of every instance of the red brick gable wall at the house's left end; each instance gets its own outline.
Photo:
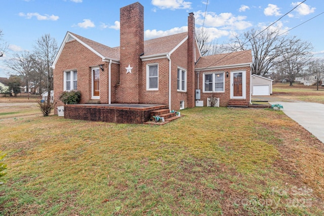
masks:
<path id="1" fill-rule="evenodd" d="M 57 106 L 63 105 L 59 96 L 63 92 L 64 71 L 77 70 L 77 90 L 82 94 L 80 103 L 91 100 L 91 66 L 104 65 L 104 72 L 100 70 L 100 100 L 106 102 L 108 83 L 108 64 L 92 51 L 84 47 L 76 40 L 67 42 L 55 65 L 54 69 L 54 98 Z M 56 106 L 56 107 L 57 107 Z M 57 114 L 57 110 L 55 109 Z"/>

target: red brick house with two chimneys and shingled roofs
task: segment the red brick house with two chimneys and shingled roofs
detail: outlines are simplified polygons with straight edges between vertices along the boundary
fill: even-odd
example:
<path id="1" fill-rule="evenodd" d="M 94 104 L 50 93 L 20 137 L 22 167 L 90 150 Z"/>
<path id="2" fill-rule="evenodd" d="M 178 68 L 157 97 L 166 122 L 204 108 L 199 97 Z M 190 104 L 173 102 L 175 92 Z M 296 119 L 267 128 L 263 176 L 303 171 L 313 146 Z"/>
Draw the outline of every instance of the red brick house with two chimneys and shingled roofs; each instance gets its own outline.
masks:
<path id="1" fill-rule="evenodd" d="M 180 110 L 196 106 L 195 90 L 201 89 L 199 104 L 205 106 L 211 95 L 220 98 L 221 106 L 248 104 L 251 51 L 201 57 L 194 32 L 190 13 L 188 32 L 144 41 L 139 3 L 120 9 L 119 47 L 67 32 L 52 66 L 54 97 L 59 101 L 63 91 L 79 90 L 81 104 L 155 104 Z"/>

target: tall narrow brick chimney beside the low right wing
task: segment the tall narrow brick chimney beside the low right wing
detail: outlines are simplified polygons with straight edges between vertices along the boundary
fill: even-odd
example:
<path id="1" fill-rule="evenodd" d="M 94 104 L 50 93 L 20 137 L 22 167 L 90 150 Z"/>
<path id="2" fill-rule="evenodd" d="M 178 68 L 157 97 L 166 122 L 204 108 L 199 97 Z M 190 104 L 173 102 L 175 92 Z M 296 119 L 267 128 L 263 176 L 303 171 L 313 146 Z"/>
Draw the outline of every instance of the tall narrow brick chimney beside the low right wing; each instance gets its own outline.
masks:
<path id="1" fill-rule="evenodd" d="M 194 72 L 194 49 L 195 49 L 195 23 L 194 14 L 188 16 L 188 68 L 187 68 L 187 95 L 188 107 L 195 106 L 195 72 Z"/>

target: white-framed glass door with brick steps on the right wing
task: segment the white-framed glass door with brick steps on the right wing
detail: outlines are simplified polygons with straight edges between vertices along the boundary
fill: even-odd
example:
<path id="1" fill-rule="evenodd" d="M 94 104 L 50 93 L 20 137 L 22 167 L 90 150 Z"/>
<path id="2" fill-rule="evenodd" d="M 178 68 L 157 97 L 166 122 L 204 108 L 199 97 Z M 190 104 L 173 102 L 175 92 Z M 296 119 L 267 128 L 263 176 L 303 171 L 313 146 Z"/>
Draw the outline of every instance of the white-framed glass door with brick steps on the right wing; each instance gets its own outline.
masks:
<path id="1" fill-rule="evenodd" d="M 246 71 L 231 72 L 231 99 L 246 99 Z"/>

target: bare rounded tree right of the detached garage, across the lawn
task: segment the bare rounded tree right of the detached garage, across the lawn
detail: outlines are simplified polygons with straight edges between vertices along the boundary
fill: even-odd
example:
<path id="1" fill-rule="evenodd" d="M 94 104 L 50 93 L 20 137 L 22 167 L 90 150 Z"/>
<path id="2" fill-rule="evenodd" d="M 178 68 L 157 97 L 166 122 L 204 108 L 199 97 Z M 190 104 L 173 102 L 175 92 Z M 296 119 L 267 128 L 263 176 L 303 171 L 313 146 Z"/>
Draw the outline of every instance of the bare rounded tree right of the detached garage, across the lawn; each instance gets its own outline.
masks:
<path id="1" fill-rule="evenodd" d="M 281 55 L 277 58 L 277 70 L 286 74 L 290 85 L 297 74 L 301 74 L 312 58 L 310 42 L 302 41 L 296 37 L 288 39 L 288 46 L 282 49 Z"/>

